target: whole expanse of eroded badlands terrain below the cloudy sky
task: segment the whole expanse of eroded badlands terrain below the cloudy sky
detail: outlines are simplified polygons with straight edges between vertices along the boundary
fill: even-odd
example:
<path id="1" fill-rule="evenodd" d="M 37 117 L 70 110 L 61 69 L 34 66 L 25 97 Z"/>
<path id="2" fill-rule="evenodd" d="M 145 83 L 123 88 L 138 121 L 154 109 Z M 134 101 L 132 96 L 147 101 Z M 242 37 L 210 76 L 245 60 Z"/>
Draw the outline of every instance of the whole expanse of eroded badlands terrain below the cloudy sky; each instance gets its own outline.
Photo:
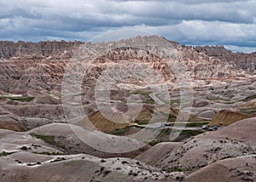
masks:
<path id="1" fill-rule="evenodd" d="M 2 41 L 0 180 L 255 181 L 255 65 L 255 53 L 156 36 Z"/>

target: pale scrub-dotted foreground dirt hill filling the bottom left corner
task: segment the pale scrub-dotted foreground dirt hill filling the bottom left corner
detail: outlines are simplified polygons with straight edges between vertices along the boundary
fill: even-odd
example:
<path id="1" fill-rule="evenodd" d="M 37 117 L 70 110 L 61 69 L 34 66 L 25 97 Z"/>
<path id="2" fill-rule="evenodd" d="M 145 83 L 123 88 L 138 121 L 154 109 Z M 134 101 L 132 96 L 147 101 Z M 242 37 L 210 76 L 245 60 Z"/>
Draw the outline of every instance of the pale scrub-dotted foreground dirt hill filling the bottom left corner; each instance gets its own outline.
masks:
<path id="1" fill-rule="evenodd" d="M 127 158 L 42 156 L 19 153 L 0 158 L 1 181 L 174 181 L 168 173 Z"/>

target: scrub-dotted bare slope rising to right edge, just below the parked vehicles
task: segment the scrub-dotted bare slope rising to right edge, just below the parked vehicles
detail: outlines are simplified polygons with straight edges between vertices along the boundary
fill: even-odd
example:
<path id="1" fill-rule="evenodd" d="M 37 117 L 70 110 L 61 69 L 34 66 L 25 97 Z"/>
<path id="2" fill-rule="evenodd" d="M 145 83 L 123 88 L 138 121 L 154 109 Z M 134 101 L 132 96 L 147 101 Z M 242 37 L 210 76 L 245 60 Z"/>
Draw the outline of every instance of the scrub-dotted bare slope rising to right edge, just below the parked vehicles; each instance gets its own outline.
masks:
<path id="1" fill-rule="evenodd" d="M 256 117 L 241 120 L 216 132 L 187 139 L 155 166 L 191 172 L 224 158 L 252 155 L 256 151 L 255 133 Z"/>

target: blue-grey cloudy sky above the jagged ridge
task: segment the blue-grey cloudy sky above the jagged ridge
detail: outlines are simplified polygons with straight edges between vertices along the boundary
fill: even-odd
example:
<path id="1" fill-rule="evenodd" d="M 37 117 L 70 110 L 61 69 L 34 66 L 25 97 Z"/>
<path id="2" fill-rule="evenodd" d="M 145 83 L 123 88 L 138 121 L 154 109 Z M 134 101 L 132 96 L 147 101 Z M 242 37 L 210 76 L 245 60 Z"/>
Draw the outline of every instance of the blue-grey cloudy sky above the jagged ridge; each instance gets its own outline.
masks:
<path id="1" fill-rule="evenodd" d="M 256 0 L 0 0 L 0 7 L 0 40 L 87 42 L 129 29 L 256 51 Z"/>

